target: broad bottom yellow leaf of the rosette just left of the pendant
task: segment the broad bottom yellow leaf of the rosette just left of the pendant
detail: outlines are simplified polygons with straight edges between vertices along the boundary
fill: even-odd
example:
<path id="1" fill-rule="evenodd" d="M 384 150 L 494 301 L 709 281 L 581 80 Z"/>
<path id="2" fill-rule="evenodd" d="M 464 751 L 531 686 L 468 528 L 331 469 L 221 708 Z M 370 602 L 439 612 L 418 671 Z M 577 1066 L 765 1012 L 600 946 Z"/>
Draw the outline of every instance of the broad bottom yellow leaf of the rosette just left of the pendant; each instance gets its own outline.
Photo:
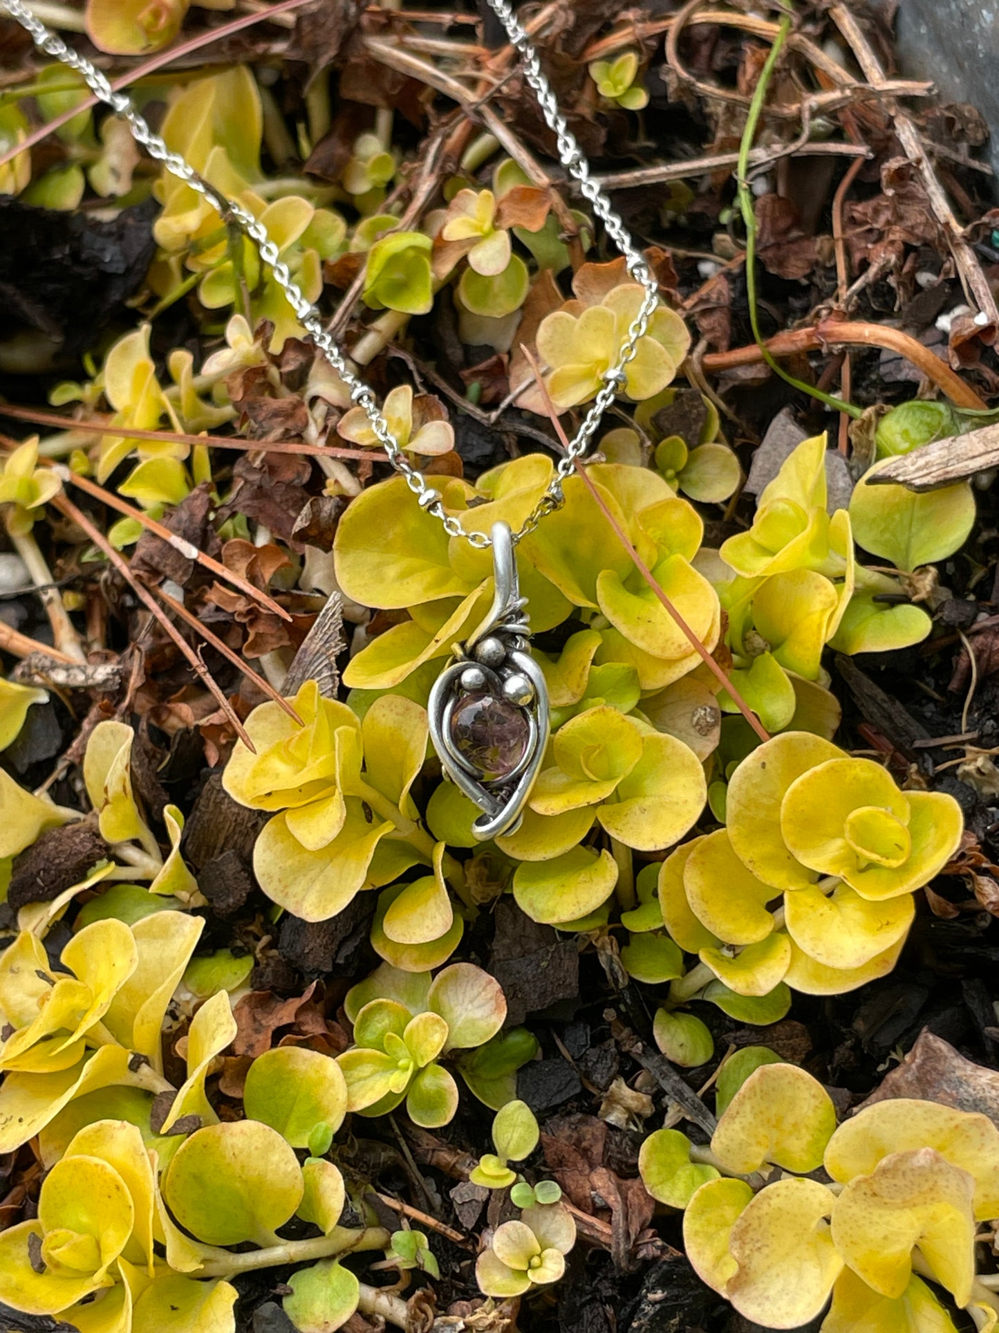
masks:
<path id="1" fill-rule="evenodd" d="M 261 888 L 278 906 L 304 921 L 326 921 L 342 912 L 368 881 L 378 841 L 390 833 L 388 820 L 370 824 L 360 800 L 348 797 L 344 826 L 325 848 L 310 852 L 276 814 L 253 848 L 253 869 Z"/>

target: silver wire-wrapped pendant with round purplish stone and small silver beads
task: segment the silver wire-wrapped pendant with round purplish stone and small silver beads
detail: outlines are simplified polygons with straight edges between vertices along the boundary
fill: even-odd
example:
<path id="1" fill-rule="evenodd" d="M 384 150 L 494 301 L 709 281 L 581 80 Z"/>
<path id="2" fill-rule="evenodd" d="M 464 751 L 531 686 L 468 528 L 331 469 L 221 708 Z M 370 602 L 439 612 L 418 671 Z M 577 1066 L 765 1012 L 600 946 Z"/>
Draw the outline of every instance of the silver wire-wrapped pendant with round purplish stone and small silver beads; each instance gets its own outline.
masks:
<path id="1" fill-rule="evenodd" d="M 527 647 L 509 525 L 493 524 L 492 539 L 493 605 L 456 645 L 428 702 L 445 776 L 484 812 L 472 825 L 480 842 L 518 828 L 549 734 L 547 686 Z"/>

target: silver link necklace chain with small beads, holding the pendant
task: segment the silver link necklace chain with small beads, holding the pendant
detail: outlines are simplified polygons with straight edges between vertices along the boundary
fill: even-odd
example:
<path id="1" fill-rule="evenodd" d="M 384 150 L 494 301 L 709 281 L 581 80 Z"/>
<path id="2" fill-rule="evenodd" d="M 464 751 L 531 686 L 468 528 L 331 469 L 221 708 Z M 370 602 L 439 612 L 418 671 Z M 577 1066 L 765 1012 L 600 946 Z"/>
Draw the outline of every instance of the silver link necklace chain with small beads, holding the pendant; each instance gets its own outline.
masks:
<path id="1" fill-rule="evenodd" d="M 617 363 L 603 375 L 603 383 L 597 393 L 597 397 L 593 400 L 593 404 L 583 417 L 575 437 L 559 459 L 547 489 L 541 496 L 534 509 L 527 515 L 521 528 L 513 533 L 513 541 L 517 543 L 522 537 L 526 537 L 527 533 L 534 532 L 546 515 L 561 507 L 562 483 L 574 471 L 577 459 L 582 457 L 589 451 L 601 417 L 623 387 L 625 367 L 634 360 L 638 341 L 649 329 L 649 320 L 651 319 L 658 304 L 658 291 L 655 279 L 653 277 L 645 257 L 635 248 L 630 232 L 625 227 L 619 215 L 611 208 L 610 200 L 605 192 L 590 176 L 590 164 L 575 141 L 575 137 L 570 132 L 565 116 L 558 108 L 558 101 L 555 100 L 555 95 L 541 68 L 541 60 L 534 49 L 534 44 L 517 19 L 513 7 L 507 4 L 507 0 L 488 0 L 488 3 L 490 9 L 496 13 L 497 19 L 500 19 L 506 29 L 510 43 L 519 52 L 523 64 L 523 77 L 534 89 L 538 105 L 541 107 L 541 113 L 558 143 L 558 160 L 569 175 L 578 181 L 579 192 L 590 203 L 594 213 L 603 223 L 607 235 L 614 240 L 618 249 L 625 256 L 629 273 L 637 283 L 641 283 L 645 289 L 642 304 L 634 320 L 629 325 Z M 444 524 L 449 536 L 465 537 L 473 547 L 477 548 L 490 547 L 493 544 L 492 536 L 485 532 L 466 532 L 461 525 L 461 521 L 454 515 L 449 515 L 445 511 L 440 491 L 429 485 L 424 475 L 409 461 L 398 440 L 392 433 L 389 423 L 385 420 L 385 416 L 378 408 L 378 401 L 373 391 L 354 372 L 338 344 L 324 328 L 318 311 L 305 297 L 302 289 L 292 277 L 288 264 L 281 259 L 281 253 L 268 235 L 266 228 L 241 204 L 236 200 L 226 199 L 225 195 L 220 193 L 213 185 L 202 180 L 190 163 L 181 157 L 180 153 L 172 152 L 166 147 L 165 141 L 149 128 L 145 119 L 136 111 L 132 104 L 132 99 L 124 92 L 116 92 L 111 87 L 107 76 L 97 69 L 96 65 L 81 56 L 77 51 L 73 51 L 72 47 L 68 47 L 67 43 L 57 36 L 57 33 L 47 28 L 45 24 L 32 13 L 28 5 L 23 4 L 21 0 L 0 0 L 0 9 L 4 9 L 12 19 L 16 19 L 17 23 L 20 23 L 21 27 L 31 33 L 35 45 L 40 51 L 44 51 L 45 55 L 52 56 L 55 60 L 60 60 L 63 64 L 69 65 L 72 69 L 76 69 L 80 75 L 83 75 L 95 97 L 107 103 L 107 105 L 111 107 L 116 115 L 124 116 L 132 129 L 132 133 L 135 135 L 136 141 L 145 148 L 151 157 L 163 163 L 172 176 L 182 180 L 196 193 L 206 199 L 224 220 L 232 219 L 238 224 L 246 236 L 256 241 L 260 248 L 260 257 L 270 268 L 274 281 L 288 299 L 288 304 L 294 311 L 302 327 L 312 335 L 314 344 L 326 356 L 340 379 L 350 389 L 350 397 L 353 401 L 364 409 L 372 424 L 372 431 L 389 456 L 392 467 L 406 479 L 406 484 L 416 495 L 420 505 L 426 511 L 426 513 L 438 519 Z"/>

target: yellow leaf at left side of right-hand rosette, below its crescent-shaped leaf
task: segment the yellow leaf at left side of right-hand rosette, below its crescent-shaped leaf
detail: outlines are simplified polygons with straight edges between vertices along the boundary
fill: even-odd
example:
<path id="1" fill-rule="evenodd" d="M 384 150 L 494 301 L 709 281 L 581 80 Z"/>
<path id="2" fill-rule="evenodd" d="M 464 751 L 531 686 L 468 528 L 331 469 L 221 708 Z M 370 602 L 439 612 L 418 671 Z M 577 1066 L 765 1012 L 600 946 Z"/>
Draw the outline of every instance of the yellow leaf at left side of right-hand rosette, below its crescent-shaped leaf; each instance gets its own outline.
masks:
<path id="1" fill-rule="evenodd" d="M 774 929 L 773 913 L 767 910 L 774 889 L 746 869 L 733 850 L 727 829 L 705 833 L 690 844 L 682 888 L 687 906 L 711 936 L 699 948 L 710 949 L 715 937 L 726 944 L 757 944 Z"/>

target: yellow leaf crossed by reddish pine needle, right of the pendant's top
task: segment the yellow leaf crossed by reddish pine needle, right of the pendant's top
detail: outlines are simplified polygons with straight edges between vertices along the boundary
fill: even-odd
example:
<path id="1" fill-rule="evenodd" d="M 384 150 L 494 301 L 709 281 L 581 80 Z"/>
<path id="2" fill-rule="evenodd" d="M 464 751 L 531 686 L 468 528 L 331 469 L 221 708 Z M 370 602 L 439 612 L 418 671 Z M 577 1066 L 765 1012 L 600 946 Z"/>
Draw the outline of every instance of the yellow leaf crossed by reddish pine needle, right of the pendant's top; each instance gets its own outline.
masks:
<path id="1" fill-rule="evenodd" d="M 693 633 L 707 643 L 718 603 L 711 584 L 683 556 L 661 560 L 653 576 Z M 614 629 L 639 652 L 675 661 L 691 651 L 687 636 L 639 575 L 626 585 L 614 571 L 605 571 L 597 579 L 597 601 Z"/>

